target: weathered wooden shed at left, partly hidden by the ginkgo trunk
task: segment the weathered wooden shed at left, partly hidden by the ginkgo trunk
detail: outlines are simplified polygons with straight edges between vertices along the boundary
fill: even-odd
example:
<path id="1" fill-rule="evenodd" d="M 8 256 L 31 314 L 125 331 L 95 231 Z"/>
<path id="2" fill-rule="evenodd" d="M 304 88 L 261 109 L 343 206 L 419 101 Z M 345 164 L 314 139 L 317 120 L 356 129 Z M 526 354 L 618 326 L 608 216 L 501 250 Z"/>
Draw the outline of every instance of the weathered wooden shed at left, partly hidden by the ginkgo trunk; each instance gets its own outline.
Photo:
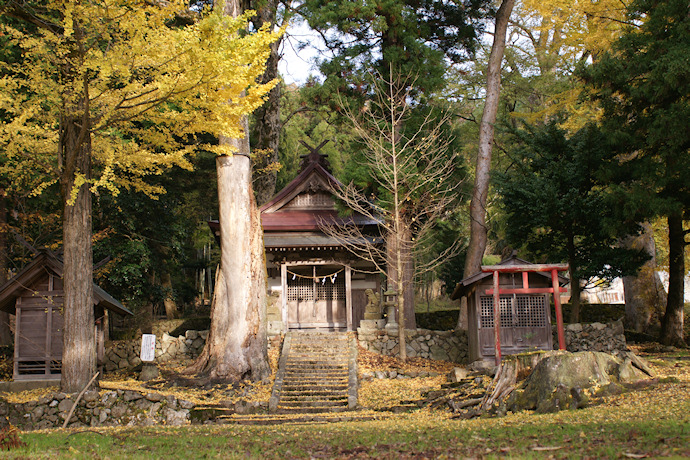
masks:
<path id="1" fill-rule="evenodd" d="M 0 287 L 0 310 L 15 315 L 14 380 L 59 379 L 62 370 L 63 263 L 43 250 Z M 106 310 L 131 315 L 107 292 L 93 285 L 97 353 L 105 352 L 102 320 Z"/>

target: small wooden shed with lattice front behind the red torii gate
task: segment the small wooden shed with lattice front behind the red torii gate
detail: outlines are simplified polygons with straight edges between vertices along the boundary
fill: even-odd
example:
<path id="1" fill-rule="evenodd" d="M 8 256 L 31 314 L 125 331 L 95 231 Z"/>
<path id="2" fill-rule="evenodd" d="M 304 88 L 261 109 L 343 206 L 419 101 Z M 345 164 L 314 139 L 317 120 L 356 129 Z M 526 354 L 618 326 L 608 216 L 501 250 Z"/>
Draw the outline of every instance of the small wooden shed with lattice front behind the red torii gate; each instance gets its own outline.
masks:
<path id="1" fill-rule="evenodd" d="M 498 266 L 533 265 L 517 257 Z M 558 276 L 558 284 L 568 279 Z M 551 274 L 545 272 L 500 273 L 499 322 L 500 350 L 504 355 L 529 350 L 552 350 Z M 491 272 L 479 272 L 460 281 L 452 299 L 467 297 L 468 345 L 470 361 L 496 357 L 494 332 L 494 280 Z M 525 288 L 529 286 L 529 288 Z"/>

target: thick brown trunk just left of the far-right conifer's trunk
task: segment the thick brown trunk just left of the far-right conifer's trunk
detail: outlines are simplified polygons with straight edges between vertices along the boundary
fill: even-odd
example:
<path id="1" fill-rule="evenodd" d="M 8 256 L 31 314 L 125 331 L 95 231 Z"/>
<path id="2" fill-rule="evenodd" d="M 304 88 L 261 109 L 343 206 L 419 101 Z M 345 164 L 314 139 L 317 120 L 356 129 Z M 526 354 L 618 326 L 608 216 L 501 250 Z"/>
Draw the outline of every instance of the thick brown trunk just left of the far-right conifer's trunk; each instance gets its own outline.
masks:
<path id="1" fill-rule="evenodd" d="M 644 232 L 641 235 L 629 237 L 624 242 L 626 248 L 644 250 L 649 255 L 649 260 L 637 275 L 623 277 L 625 327 L 637 332 L 645 332 L 652 313 L 655 310 L 663 311 L 666 307 L 666 293 L 656 271 L 656 245 L 652 226 L 646 222 L 642 227 Z"/>

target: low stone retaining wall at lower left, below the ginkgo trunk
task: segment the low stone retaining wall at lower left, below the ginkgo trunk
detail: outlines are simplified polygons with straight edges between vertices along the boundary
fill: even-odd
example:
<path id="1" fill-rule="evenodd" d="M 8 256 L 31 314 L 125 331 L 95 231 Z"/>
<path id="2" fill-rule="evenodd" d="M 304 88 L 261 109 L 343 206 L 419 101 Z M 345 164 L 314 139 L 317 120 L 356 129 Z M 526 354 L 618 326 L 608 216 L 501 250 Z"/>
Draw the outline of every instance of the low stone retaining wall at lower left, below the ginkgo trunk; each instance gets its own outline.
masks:
<path id="1" fill-rule="evenodd" d="M 9 403 L 0 399 L 0 426 L 20 430 L 62 427 L 77 394 L 55 393 L 38 401 Z M 68 427 L 186 425 L 194 404 L 158 393 L 90 390 L 84 393 Z"/>

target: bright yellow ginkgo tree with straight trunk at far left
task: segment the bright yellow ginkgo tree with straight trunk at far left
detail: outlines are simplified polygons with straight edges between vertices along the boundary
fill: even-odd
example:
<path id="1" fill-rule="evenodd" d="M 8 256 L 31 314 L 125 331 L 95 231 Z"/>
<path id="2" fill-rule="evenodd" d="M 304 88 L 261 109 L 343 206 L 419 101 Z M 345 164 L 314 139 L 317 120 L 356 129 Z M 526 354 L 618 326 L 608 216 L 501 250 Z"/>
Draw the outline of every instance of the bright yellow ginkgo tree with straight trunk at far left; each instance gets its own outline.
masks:
<path id="1" fill-rule="evenodd" d="M 78 391 L 96 367 L 92 308 L 91 195 L 164 191 L 145 176 L 190 168 L 199 133 L 242 136 L 240 120 L 273 83 L 256 84 L 278 34 L 240 35 L 238 18 L 193 17 L 184 1 L 7 1 L 19 21 L 2 33 L 21 49 L 3 63 L 0 146 L 30 164 L 52 154 L 50 181 L 64 205 L 62 389 Z M 183 18 L 184 20 L 180 20 Z"/>

